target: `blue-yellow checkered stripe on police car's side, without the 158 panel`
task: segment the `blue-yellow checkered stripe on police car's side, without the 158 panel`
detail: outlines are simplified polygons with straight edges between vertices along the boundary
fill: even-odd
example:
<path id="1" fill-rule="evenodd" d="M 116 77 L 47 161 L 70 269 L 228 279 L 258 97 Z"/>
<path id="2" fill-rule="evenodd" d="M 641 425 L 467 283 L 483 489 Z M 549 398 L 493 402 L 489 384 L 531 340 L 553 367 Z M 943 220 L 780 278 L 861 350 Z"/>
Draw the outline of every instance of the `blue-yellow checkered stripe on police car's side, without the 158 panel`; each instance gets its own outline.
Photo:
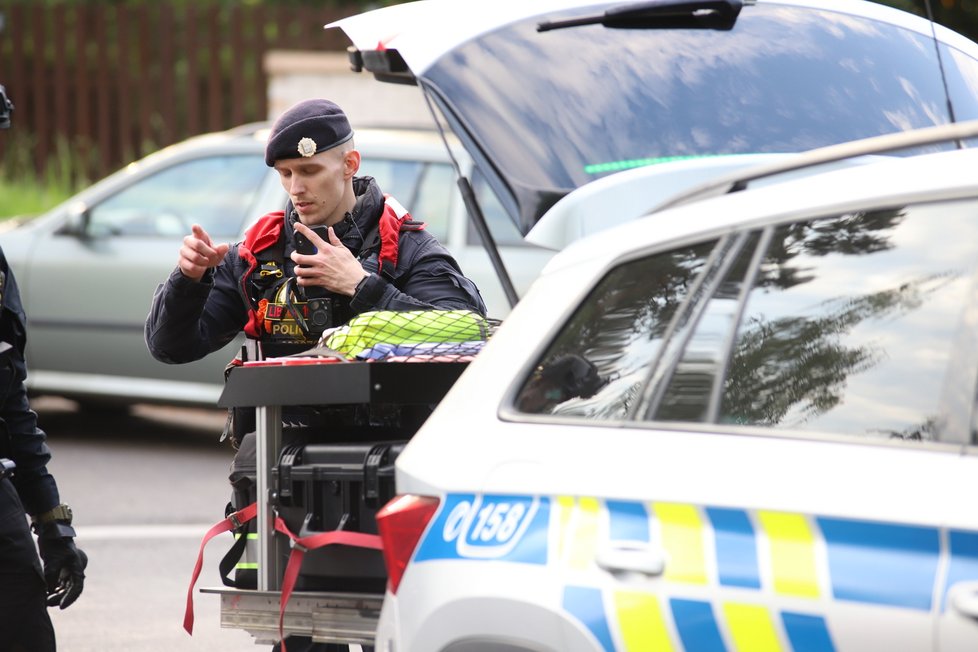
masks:
<path id="1" fill-rule="evenodd" d="M 946 595 L 954 582 L 978 579 L 978 533 L 973 532 L 949 532 L 945 555 L 950 562 L 942 573 L 937 528 L 571 497 L 556 499 L 554 511 L 555 553 L 569 570 L 585 570 L 606 542 L 645 542 L 666 553 L 665 582 L 739 589 L 736 595 L 744 596 L 714 604 L 666 600 L 653 592 L 616 590 L 606 595 L 607 590 L 570 583 L 563 594 L 564 609 L 606 650 L 616 649 L 614 627 L 626 650 L 726 651 L 730 643 L 735 650 L 778 651 L 784 649 L 780 629 L 791 649 L 831 651 L 836 646 L 818 613 L 826 601 L 927 612 L 934 596 Z M 792 599 L 793 605 L 810 604 L 811 612 L 772 613 L 767 606 L 751 604 L 752 591 L 765 592 L 765 604 L 773 595 Z"/>

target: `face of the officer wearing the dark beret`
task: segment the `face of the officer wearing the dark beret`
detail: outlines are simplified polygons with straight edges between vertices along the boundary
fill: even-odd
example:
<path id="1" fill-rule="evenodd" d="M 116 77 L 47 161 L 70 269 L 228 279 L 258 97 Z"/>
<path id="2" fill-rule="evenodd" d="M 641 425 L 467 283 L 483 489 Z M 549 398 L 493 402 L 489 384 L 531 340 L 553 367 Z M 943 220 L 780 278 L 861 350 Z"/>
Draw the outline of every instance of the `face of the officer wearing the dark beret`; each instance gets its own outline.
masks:
<path id="1" fill-rule="evenodd" d="M 360 153 L 343 146 L 275 162 L 299 220 L 308 226 L 336 224 L 353 208 L 356 198 L 350 181 L 359 167 Z"/>

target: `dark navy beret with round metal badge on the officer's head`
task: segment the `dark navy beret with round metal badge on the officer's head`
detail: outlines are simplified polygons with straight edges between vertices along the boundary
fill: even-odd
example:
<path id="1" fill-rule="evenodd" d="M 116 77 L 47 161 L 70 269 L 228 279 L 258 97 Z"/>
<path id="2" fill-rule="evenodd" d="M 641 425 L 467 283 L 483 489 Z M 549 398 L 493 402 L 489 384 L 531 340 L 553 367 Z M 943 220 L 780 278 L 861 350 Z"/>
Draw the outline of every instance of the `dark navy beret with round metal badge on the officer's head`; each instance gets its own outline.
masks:
<path id="1" fill-rule="evenodd" d="M 303 100 L 279 116 L 265 145 L 265 164 L 325 152 L 353 138 L 343 109 L 329 100 Z"/>

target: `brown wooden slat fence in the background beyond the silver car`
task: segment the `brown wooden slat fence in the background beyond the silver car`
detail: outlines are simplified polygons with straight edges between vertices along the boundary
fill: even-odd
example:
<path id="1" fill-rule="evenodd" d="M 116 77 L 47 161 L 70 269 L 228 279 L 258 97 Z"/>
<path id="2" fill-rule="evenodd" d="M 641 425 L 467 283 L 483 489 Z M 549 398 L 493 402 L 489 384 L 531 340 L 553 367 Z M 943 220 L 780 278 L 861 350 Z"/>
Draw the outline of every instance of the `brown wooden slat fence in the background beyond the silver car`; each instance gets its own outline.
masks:
<path id="1" fill-rule="evenodd" d="M 324 3 L 325 4 L 325 3 Z M 0 6 L 11 171 L 98 179 L 164 145 L 267 117 L 271 49 L 343 50 L 358 6 L 129 2 Z"/>

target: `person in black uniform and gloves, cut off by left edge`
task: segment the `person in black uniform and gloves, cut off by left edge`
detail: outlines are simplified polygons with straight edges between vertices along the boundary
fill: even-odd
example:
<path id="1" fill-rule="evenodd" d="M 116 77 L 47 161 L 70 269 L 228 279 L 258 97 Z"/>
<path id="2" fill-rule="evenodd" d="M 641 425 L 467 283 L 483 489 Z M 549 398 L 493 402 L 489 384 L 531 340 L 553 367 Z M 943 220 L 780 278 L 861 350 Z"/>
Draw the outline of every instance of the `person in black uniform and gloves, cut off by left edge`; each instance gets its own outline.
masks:
<path id="1" fill-rule="evenodd" d="M 2 250 L 0 306 L 0 652 L 53 652 L 47 607 L 78 599 L 88 558 L 75 546 L 71 509 L 48 473 L 51 452 L 28 404 L 27 320 Z"/>

